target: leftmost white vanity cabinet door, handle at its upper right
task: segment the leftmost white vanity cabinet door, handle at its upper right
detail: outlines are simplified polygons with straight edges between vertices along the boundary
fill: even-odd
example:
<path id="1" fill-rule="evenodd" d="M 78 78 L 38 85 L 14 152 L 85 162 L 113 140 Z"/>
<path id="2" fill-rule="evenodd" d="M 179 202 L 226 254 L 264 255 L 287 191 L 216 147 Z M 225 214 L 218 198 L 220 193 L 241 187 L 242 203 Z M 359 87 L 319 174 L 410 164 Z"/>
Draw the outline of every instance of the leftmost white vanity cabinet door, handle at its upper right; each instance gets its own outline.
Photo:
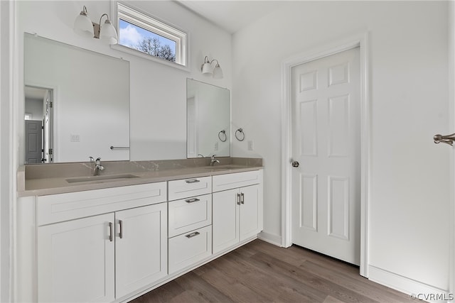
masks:
<path id="1" fill-rule="evenodd" d="M 39 302 L 114 300 L 113 224 L 111 213 L 38 227 Z"/>

